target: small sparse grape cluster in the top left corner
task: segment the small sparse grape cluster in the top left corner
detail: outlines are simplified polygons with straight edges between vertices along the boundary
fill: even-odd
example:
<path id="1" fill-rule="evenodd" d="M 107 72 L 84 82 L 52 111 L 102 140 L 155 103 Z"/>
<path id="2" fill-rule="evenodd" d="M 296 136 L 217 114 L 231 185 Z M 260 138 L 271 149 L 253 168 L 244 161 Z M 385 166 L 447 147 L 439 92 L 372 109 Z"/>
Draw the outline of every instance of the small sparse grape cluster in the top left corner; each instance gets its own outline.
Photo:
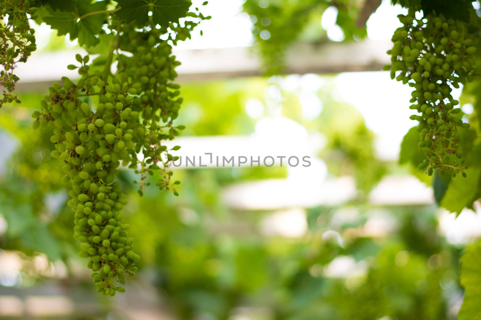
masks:
<path id="1" fill-rule="evenodd" d="M 37 49 L 35 45 L 35 30 L 30 28 L 29 19 L 36 19 L 37 8 L 30 7 L 28 0 L 0 1 L 0 86 L 3 87 L 3 103 L 13 101 L 20 103 L 13 94 L 19 78 L 13 74 L 17 62 L 25 62 L 30 54 Z"/>

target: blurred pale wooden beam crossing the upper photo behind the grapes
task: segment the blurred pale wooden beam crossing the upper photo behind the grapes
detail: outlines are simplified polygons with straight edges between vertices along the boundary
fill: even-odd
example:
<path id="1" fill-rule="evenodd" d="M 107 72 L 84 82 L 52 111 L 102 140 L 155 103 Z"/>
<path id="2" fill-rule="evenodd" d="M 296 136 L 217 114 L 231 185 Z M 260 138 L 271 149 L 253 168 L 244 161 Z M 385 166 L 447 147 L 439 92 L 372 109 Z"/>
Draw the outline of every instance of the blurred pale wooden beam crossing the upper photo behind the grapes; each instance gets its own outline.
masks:
<path id="1" fill-rule="evenodd" d="M 377 71 L 390 62 L 386 51 L 390 41 L 364 40 L 347 43 L 300 43 L 287 52 L 286 74 Z M 67 70 L 80 50 L 33 54 L 19 64 L 17 90 L 43 90 L 62 76 L 77 78 L 76 70 Z M 177 82 L 206 81 L 234 77 L 259 76 L 261 62 L 252 47 L 174 50 L 182 65 L 177 67 Z"/>

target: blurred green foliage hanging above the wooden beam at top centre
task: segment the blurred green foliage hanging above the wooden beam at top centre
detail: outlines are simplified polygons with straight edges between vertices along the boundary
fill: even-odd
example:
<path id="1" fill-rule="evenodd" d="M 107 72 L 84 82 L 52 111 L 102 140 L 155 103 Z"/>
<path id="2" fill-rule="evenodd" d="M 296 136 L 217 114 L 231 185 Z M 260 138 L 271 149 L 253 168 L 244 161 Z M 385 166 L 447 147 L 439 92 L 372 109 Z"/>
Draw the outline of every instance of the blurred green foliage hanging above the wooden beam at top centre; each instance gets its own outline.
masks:
<path id="1" fill-rule="evenodd" d="M 335 23 L 341 30 L 339 34 L 342 38 L 336 41 L 359 40 L 367 36 L 365 23 L 372 11 L 367 13 L 366 20 L 360 12 L 368 2 L 378 1 L 246 0 L 243 10 L 251 17 L 252 33 L 266 75 L 285 71 L 285 51 L 294 42 L 329 42 L 329 30 L 323 29 L 319 24 L 326 9 L 337 12 Z M 379 4 L 380 1 L 377 5 Z M 376 8 L 377 6 L 373 11 Z"/>

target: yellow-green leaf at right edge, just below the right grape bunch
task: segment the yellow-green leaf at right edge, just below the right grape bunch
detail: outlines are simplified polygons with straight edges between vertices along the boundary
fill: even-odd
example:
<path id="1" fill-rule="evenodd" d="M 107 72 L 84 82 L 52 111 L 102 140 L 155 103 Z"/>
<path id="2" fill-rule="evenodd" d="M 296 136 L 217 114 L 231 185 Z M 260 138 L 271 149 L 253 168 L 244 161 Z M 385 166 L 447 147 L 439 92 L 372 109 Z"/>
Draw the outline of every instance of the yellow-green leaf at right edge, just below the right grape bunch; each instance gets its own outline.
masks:
<path id="1" fill-rule="evenodd" d="M 461 213 L 464 207 L 472 205 L 472 199 L 476 193 L 478 179 L 481 170 L 469 167 L 465 170 L 467 177 L 457 175 L 449 182 L 448 189 L 444 194 L 441 206 L 451 212 Z"/>

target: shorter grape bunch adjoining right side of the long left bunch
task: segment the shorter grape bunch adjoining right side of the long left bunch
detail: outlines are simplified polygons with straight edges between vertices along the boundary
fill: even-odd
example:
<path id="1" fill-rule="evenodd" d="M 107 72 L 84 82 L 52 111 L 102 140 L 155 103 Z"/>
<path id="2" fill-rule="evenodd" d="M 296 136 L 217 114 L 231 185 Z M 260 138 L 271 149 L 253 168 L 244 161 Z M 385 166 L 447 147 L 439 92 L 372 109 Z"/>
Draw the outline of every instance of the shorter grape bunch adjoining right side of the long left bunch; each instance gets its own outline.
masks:
<path id="1" fill-rule="evenodd" d="M 145 129 L 150 133 L 146 136 L 143 145 L 139 145 L 136 150 L 149 157 L 149 160 L 139 161 L 134 154 L 129 166 L 131 168 L 139 167 L 136 173 L 140 173 L 141 178 L 139 182 L 134 182 L 140 184 L 140 195 L 146 185 L 144 182 L 146 173 L 152 175 L 152 170 L 160 169 L 158 163 L 162 163 L 162 167 L 167 168 L 172 161 L 178 159 L 169 154 L 167 148 L 159 142 L 166 139 L 173 140 L 180 130 L 185 129 L 183 125 L 173 126 L 173 120 L 177 119 L 183 101 L 179 97 L 180 85 L 171 82 L 177 78 L 175 67 L 180 65 L 180 62 L 176 61 L 176 57 L 172 55 L 172 47 L 167 41 L 159 42 L 159 37 L 164 33 L 164 29 L 154 29 L 150 32 L 131 30 L 125 36 L 127 39 L 124 40 L 127 40 L 128 50 L 133 53 L 133 56 L 122 56 L 119 59 L 121 68 L 124 68 L 123 74 L 136 83 L 134 89 L 143 93 L 141 100 L 137 100 L 141 104 L 138 111 L 141 112 L 144 119 L 142 123 Z M 144 40 L 139 41 L 139 39 Z M 161 120 L 163 125 L 159 125 Z M 173 150 L 179 148 L 179 146 L 175 146 Z M 171 189 L 171 176 L 171 171 L 163 170 L 156 183 L 157 187 L 161 190 Z M 173 184 L 178 183 L 180 182 L 175 181 Z M 177 190 L 174 188 L 173 191 L 177 196 Z"/>

